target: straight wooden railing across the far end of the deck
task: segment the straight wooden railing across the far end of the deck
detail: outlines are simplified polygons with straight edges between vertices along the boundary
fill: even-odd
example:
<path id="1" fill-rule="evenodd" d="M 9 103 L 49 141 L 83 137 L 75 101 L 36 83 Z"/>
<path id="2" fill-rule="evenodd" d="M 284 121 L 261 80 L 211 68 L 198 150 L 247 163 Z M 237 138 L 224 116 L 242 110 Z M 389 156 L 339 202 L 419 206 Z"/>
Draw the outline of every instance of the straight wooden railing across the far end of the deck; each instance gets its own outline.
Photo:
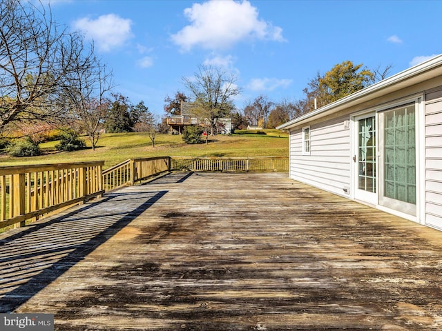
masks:
<path id="1" fill-rule="evenodd" d="M 171 157 L 172 170 L 204 171 L 287 171 L 287 157 Z"/>

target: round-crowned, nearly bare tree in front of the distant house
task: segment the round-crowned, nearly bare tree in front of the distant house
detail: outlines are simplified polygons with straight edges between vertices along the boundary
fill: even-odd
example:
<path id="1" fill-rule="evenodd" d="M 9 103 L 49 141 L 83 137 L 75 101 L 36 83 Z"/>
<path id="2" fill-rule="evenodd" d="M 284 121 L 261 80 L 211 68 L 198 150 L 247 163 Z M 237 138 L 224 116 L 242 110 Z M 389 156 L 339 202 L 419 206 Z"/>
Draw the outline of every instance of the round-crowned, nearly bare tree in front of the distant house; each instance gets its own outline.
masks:
<path id="1" fill-rule="evenodd" d="M 213 134 L 218 119 L 229 117 L 234 109 L 232 99 L 240 94 L 240 88 L 236 86 L 236 77 L 219 68 L 199 66 L 194 77 L 183 78 L 183 81 L 195 97 L 194 115 L 200 123 L 207 123 Z"/>

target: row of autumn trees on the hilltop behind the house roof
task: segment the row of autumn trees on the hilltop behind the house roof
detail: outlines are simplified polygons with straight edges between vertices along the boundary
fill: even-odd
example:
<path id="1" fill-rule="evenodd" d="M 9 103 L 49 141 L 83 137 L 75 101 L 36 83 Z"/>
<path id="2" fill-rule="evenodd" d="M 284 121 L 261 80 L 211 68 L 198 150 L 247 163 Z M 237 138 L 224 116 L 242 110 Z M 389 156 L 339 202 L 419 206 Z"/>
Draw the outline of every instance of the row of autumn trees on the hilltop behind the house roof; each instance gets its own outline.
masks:
<path id="1" fill-rule="evenodd" d="M 391 68 L 369 70 L 363 64 L 355 66 L 352 61 L 344 61 L 325 74 L 318 72 L 302 90 L 302 99 L 272 101 L 265 94 L 260 94 L 238 109 L 233 106 L 231 98 L 241 91 L 235 84 L 236 79 L 218 69 L 201 66 L 195 77 L 184 79 L 184 86 L 190 94 L 178 91 L 174 97 L 167 96 L 164 112 L 166 116 L 180 114 L 182 102 L 193 102 L 197 105 L 201 121 L 210 124 L 211 130 L 216 129 L 217 119 L 227 116 L 232 119 L 233 130 L 248 126 L 276 128 L 384 79 Z"/>

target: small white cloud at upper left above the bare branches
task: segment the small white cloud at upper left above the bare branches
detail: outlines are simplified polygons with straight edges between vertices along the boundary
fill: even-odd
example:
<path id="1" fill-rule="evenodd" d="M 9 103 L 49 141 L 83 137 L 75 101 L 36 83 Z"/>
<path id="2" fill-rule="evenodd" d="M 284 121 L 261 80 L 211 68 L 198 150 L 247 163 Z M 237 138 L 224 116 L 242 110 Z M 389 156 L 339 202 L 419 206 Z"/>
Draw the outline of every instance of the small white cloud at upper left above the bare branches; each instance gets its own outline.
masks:
<path id="1" fill-rule="evenodd" d="M 75 21 L 74 27 L 83 31 L 87 39 L 93 39 L 99 50 L 108 52 L 124 45 L 132 37 L 132 21 L 115 14 L 107 14 L 97 19 L 84 17 Z"/>

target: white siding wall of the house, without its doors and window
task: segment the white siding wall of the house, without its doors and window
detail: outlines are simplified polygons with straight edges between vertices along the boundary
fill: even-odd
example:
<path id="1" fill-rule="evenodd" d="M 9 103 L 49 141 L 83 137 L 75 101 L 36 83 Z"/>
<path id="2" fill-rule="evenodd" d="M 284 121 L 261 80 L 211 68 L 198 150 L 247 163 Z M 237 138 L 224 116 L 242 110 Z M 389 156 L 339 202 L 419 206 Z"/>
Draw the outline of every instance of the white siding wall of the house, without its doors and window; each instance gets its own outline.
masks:
<path id="1" fill-rule="evenodd" d="M 378 208 L 414 219 L 425 225 L 442 230 L 442 77 L 434 77 L 402 90 L 383 94 L 364 103 L 349 106 L 335 114 L 304 121 L 290 131 L 290 177 L 317 188 L 350 198 L 352 193 L 352 144 L 351 132 L 345 123 L 354 114 L 365 111 L 379 111 L 390 103 L 399 104 L 408 98 L 423 97 L 419 112 L 423 122 L 419 131 L 418 143 L 421 157 L 419 177 L 421 183 L 418 197 L 418 216 L 406 217 L 387 208 Z M 302 155 L 302 128 L 310 126 L 311 154 Z M 425 131 L 425 132 L 422 132 Z M 380 169 L 381 171 L 381 169 Z M 348 191 L 345 192 L 345 189 Z"/>

